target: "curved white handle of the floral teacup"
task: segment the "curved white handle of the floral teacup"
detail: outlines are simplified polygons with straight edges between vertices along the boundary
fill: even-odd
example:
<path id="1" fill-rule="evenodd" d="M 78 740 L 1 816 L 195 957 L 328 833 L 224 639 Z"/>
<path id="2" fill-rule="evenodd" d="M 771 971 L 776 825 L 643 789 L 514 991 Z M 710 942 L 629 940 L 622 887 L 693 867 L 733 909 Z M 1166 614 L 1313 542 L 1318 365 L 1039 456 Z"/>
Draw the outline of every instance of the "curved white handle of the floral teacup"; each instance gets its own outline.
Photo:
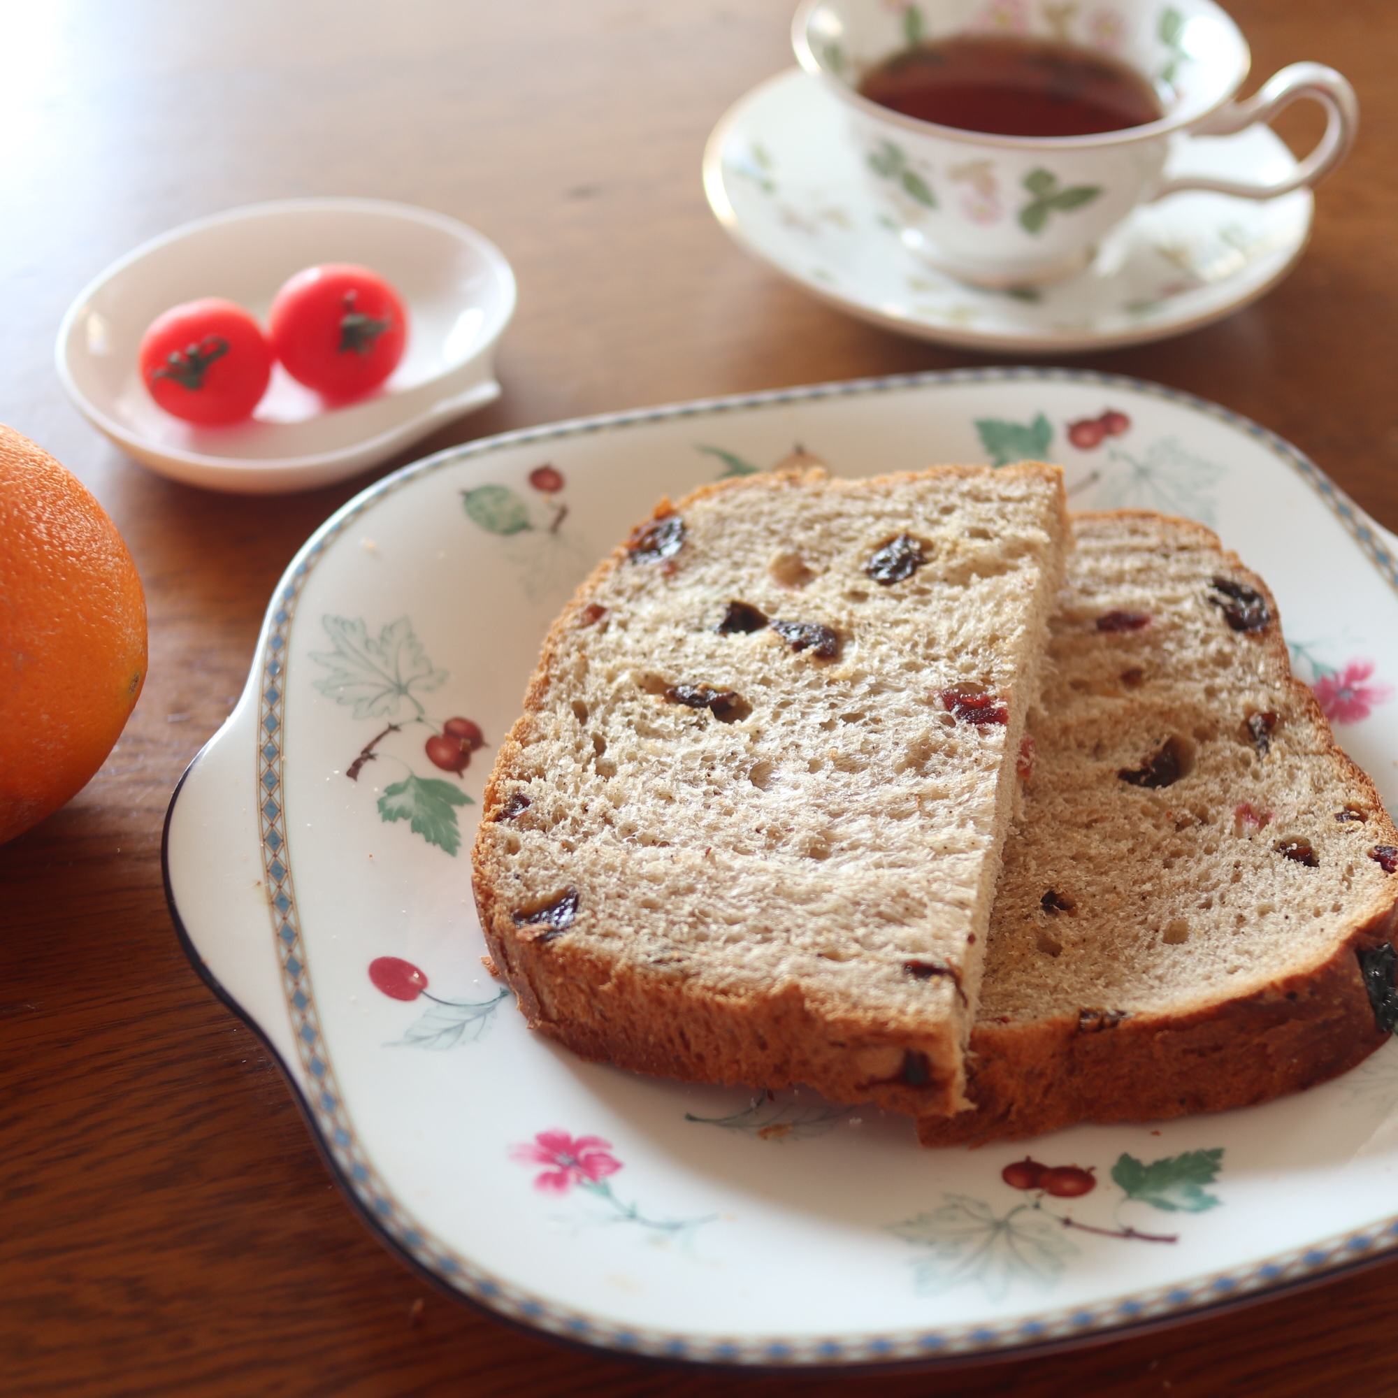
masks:
<path id="1" fill-rule="evenodd" d="M 1216 194 L 1239 194 L 1243 199 L 1276 199 L 1293 189 L 1318 185 L 1348 154 L 1359 130 L 1359 99 L 1348 80 L 1324 63 L 1290 63 L 1269 77 L 1257 92 L 1244 102 L 1230 102 L 1198 126 L 1190 129 L 1190 136 L 1232 136 L 1254 122 L 1271 122 L 1278 112 L 1309 96 L 1325 108 L 1325 134 L 1317 141 L 1316 150 L 1296 166 L 1289 179 L 1272 185 L 1254 185 L 1243 180 L 1211 179 L 1208 175 L 1180 175 L 1167 179 L 1155 192 L 1153 199 L 1163 199 L 1181 189 L 1206 189 Z"/>

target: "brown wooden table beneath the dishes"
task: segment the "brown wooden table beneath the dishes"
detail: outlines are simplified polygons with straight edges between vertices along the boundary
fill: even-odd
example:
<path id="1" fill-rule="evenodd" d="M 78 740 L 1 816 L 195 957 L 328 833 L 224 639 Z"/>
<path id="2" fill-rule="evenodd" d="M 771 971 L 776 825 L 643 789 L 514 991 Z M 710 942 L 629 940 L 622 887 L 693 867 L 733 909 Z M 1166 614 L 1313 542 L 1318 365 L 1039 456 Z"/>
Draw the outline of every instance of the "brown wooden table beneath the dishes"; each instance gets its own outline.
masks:
<path id="1" fill-rule="evenodd" d="M 1169 1332 L 932 1377 L 719 1380 L 555 1348 L 443 1299 L 373 1241 L 267 1054 L 176 945 L 159 870 L 171 790 L 233 703 L 296 545 L 370 477 L 268 502 L 148 474 L 63 397 L 64 306 L 185 219 L 368 194 L 475 225 L 520 281 L 503 398 L 412 454 L 573 414 L 983 362 L 825 309 L 748 260 L 705 207 L 705 137 L 790 64 L 790 7 L 0 10 L 0 421 L 96 492 L 151 622 L 150 681 L 110 761 L 0 849 L 4 1392 L 1398 1392 L 1398 1262 Z M 1232 8 L 1260 77 L 1295 59 L 1349 75 L 1359 145 L 1281 288 L 1211 329 L 1079 362 L 1257 418 L 1398 527 L 1392 3 Z M 1309 144 L 1314 113 L 1282 129 Z"/>

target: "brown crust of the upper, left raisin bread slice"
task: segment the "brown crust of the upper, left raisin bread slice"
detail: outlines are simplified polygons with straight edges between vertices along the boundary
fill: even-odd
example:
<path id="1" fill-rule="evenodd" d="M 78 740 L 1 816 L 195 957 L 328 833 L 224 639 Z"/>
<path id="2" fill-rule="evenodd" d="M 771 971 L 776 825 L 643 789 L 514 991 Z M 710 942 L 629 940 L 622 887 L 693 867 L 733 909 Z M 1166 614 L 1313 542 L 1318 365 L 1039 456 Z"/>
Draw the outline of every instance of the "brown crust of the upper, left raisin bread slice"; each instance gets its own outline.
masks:
<path id="1" fill-rule="evenodd" d="M 946 466 L 879 477 L 878 481 L 896 484 L 932 474 L 956 478 L 984 473 L 984 467 Z M 769 480 L 779 485 L 783 478 L 801 481 L 807 474 L 772 473 Z M 809 474 L 825 478 L 823 471 Z M 1060 481 L 1055 467 L 1037 463 L 1005 467 L 997 475 Z M 663 499 L 651 519 L 679 513 L 696 500 L 735 488 L 741 488 L 741 482 L 719 482 L 702 487 L 675 505 Z M 1058 509 L 1065 526 L 1061 484 Z M 535 721 L 561 682 L 562 639 L 583 621 L 582 612 L 601 583 L 626 559 L 624 542 L 593 570 L 549 629 L 524 695 L 524 710 L 500 744 L 487 783 L 482 829 L 499 815 Z M 906 1043 L 907 1050 L 925 1054 L 928 1079 L 916 1086 L 900 1079 L 886 1081 L 886 1065 L 875 1064 L 888 1057 L 891 1037 L 898 1039 L 888 1025 L 871 1026 L 868 1016 L 861 1021 L 853 1015 L 844 1019 L 832 1015 L 825 1005 L 808 1004 L 794 984 L 776 987 L 773 994 L 762 997 L 728 995 L 691 980 L 654 974 L 630 958 L 611 955 L 596 939 L 554 941 L 534 935 L 528 924 L 516 924 L 513 909 L 502 896 L 507 886 L 503 858 L 480 837 L 473 849 L 473 884 L 489 953 L 514 990 L 530 1028 L 583 1058 L 681 1081 L 756 1088 L 815 1082 L 833 1100 L 872 1100 L 913 1116 L 970 1106 L 963 1093 L 963 1075 L 937 1068 L 945 1062 L 959 1064 L 965 1048 L 945 1015 L 939 1022 L 920 1026 L 917 1036 Z M 951 983 L 932 984 L 928 991 L 930 1000 L 962 994 L 959 984 Z M 900 1043 L 896 1064 L 903 1051 Z M 865 1055 L 863 1064 L 861 1053 Z M 899 1067 L 895 1067 L 895 1078 Z"/>

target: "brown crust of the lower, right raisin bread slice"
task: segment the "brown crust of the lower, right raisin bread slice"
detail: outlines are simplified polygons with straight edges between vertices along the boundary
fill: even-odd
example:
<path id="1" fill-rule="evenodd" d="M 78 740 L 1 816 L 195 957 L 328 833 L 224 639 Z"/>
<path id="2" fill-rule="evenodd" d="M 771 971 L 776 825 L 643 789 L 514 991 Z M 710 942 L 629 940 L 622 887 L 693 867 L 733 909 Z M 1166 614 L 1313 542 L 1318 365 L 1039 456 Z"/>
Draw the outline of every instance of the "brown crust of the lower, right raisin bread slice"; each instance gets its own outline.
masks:
<path id="1" fill-rule="evenodd" d="M 1075 516 L 1092 520 L 1159 520 L 1151 512 Z M 1218 548 L 1216 535 L 1192 520 L 1166 517 Z M 1229 573 L 1267 600 L 1271 622 L 1255 636 L 1267 647 L 1276 682 L 1328 748 L 1325 756 L 1371 811 L 1369 844 L 1398 844 L 1398 832 L 1369 776 L 1335 744 L 1311 689 L 1290 672 L 1276 598 L 1236 554 L 1219 549 Z M 1014 839 L 1014 836 L 1012 836 Z M 967 1096 L 974 1111 L 923 1117 L 927 1146 L 983 1144 L 1057 1131 L 1079 1121 L 1152 1121 L 1187 1113 L 1255 1106 L 1348 1072 L 1380 1048 L 1378 1028 L 1360 973 L 1359 953 L 1398 941 L 1398 877 L 1339 923 L 1328 956 L 1236 997 L 1194 1004 L 1170 1015 L 1128 1014 L 1111 1023 L 1079 1007 L 1035 1022 L 977 1019 L 967 1055 Z M 994 945 L 994 942 L 993 942 Z M 993 952 L 987 976 L 994 974 Z M 1086 1014 L 1093 1011 L 1096 1014 Z"/>

